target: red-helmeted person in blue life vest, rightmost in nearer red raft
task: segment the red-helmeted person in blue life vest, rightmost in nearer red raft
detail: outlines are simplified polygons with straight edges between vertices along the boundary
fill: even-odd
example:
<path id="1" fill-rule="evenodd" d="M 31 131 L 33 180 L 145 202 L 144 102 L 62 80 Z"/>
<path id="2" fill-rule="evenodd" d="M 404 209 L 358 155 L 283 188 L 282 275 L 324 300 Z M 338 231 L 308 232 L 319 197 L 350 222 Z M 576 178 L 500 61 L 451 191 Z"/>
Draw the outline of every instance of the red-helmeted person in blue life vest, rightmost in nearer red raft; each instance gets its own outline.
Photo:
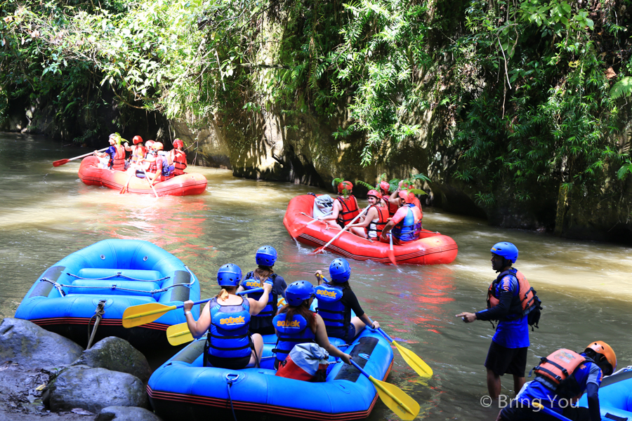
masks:
<path id="1" fill-rule="evenodd" d="M 414 194 L 402 190 L 400 208 L 382 230 L 381 241 L 388 243 L 388 234 L 393 235 L 393 244 L 404 244 L 419 239 L 421 232 L 421 210 L 412 204 Z"/>

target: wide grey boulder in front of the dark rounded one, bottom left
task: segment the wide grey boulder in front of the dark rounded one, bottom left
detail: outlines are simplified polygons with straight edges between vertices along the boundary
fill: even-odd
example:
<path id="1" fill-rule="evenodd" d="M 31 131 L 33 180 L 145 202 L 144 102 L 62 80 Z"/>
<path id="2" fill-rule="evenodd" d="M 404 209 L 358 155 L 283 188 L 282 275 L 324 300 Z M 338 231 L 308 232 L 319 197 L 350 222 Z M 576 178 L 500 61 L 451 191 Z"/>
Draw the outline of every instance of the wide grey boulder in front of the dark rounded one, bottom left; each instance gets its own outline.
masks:
<path id="1" fill-rule="evenodd" d="M 48 404 L 53 411 L 83 408 L 98 413 L 107 406 L 147 408 L 145 385 L 128 373 L 72 366 L 48 385 Z"/>

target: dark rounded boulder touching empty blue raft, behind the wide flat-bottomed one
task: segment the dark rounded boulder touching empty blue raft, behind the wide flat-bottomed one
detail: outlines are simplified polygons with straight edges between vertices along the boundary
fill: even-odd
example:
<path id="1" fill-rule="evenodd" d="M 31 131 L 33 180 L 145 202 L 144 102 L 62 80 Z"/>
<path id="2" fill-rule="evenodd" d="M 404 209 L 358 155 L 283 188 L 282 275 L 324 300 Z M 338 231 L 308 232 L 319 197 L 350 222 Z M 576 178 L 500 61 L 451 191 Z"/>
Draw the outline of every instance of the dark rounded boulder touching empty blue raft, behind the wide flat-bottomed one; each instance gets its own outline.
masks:
<path id="1" fill-rule="evenodd" d="M 72 366 L 106 368 L 129 373 L 143 382 L 149 380 L 152 370 L 145 356 L 124 339 L 110 336 L 86 349 Z"/>

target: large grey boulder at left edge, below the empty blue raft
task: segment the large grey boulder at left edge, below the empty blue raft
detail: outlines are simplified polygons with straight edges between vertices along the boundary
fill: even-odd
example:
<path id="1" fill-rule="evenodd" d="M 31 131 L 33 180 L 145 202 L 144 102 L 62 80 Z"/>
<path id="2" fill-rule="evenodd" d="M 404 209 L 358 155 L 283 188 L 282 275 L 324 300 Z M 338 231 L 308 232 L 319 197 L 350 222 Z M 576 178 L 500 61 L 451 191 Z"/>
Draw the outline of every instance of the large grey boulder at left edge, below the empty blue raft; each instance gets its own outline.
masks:
<path id="1" fill-rule="evenodd" d="M 27 368 L 67 366 L 83 350 L 28 320 L 7 317 L 0 324 L 0 363 L 13 361 Z"/>

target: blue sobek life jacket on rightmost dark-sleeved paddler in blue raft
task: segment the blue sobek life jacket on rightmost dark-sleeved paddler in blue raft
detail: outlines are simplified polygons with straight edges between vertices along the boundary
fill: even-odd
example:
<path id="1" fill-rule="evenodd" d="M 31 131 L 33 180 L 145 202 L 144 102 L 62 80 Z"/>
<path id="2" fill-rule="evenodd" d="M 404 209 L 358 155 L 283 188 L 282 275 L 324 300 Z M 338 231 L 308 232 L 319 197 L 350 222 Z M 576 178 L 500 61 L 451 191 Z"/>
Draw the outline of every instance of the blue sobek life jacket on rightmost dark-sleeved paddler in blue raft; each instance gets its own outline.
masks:
<path id="1" fill-rule="evenodd" d="M 318 308 L 327 327 L 327 336 L 347 340 L 351 323 L 351 309 L 341 302 L 344 288 L 337 285 L 320 285 L 316 288 Z"/>

